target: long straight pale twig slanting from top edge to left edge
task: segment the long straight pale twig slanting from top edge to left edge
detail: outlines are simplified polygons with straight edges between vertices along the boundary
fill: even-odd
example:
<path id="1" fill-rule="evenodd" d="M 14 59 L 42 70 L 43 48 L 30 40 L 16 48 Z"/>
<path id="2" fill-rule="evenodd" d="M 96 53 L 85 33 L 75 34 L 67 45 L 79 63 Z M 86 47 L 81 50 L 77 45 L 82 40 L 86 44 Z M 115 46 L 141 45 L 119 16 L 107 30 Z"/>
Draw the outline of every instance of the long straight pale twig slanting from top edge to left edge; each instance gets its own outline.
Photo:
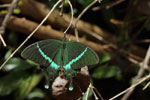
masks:
<path id="1" fill-rule="evenodd" d="M 11 59 L 11 57 L 14 56 L 14 54 L 34 35 L 34 33 L 39 29 L 39 27 L 46 21 L 46 19 L 51 15 L 51 13 L 54 11 L 56 6 L 61 2 L 62 0 L 59 0 L 56 2 L 56 4 L 53 6 L 51 11 L 47 14 L 47 16 L 41 21 L 41 23 L 33 30 L 33 32 L 23 41 L 22 44 L 19 45 L 19 47 L 7 58 L 7 60 L 1 65 L 0 70 L 4 67 L 4 65 Z"/>

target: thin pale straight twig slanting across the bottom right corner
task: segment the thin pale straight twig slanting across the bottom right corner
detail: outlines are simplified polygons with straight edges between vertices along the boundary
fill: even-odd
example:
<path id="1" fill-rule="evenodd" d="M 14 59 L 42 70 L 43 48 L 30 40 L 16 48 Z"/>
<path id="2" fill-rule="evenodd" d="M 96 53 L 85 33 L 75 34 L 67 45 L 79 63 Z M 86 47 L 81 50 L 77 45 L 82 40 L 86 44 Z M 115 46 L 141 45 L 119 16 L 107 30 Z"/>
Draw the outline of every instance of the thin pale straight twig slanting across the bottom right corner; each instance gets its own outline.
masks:
<path id="1" fill-rule="evenodd" d="M 150 78 L 150 74 L 145 76 L 144 78 L 142 78 L 139 82 L 137 82 L 136 84 L 133 84 L 131 87 L 127 88 L 126 90 L 120 92 L 119 94 L 115 95 L 114 97 L 110 98 L 109 100 L 114 100 L 115 98 L 121 96 L 122 94 L 128 92 L 129 90 L 135 88 L 137 85 L 141 84 L 142 82 L 144 82 L 145 80 L 147 80 L 148 78 Z M 127 100 L 127 99 L 126 99 Z"/>

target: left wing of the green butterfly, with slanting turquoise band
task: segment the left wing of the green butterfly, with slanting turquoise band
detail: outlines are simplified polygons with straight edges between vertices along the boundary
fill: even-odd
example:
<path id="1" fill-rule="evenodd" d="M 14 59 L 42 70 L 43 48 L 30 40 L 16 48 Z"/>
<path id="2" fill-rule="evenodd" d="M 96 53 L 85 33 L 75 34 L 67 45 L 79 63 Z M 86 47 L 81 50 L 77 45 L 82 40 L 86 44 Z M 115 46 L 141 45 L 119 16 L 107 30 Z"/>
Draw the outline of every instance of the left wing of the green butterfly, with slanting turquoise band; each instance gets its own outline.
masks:
<path id="1" fill-rule="evenodd" d="M 41 66 L 50 66 L 61 46 L 62 42 L 59 40 L 42 40 L 29 45 L 21 55 L 23 58 L 30 59 Z"/>

